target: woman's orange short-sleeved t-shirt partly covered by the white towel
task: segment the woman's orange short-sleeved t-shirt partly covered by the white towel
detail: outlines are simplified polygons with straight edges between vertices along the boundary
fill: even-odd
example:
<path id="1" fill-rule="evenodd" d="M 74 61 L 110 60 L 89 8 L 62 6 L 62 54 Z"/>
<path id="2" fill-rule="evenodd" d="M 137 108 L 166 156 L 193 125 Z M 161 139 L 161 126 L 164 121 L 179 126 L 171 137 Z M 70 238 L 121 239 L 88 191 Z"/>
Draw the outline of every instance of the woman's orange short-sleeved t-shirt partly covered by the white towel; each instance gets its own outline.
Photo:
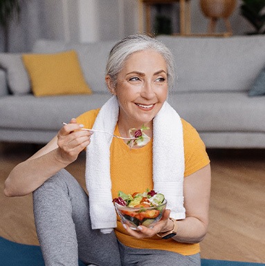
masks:
<path id="1" fill-rule="evenodd" d="M 100 109 L 91 110 L 77 117 L 77 122 L 84 124 L 85 128 L 91 129 Z M 183 124 L 183 141 L 185 155 L 184 176 L 191 175 L 209 164 L 210 160 L 205 151 L 205 145 L 197 131 L 185 120 Z M 120 135 L 118 126 L 114 134 Z M 93 139 L 91 140 L 93 141 Z M 129 149 L 129 146 L 122 140 L 113 137 L 111 142 L 111 193 L 112 197 L 118 196 L 118 191 L 134 193 L 153 189 L 152 180 L 152 141 L 140 149 Z M 137 239 L 129 234 L 122 227 L 118 218 L 115 229 L 118 240 L 128 247 L 142 249 L 162 249 L 174 251 L 183 255 L 197 254 L 199 244 L 178 243 L 173 239 L 164 240 L 153 236 L 152 238 Z"/>

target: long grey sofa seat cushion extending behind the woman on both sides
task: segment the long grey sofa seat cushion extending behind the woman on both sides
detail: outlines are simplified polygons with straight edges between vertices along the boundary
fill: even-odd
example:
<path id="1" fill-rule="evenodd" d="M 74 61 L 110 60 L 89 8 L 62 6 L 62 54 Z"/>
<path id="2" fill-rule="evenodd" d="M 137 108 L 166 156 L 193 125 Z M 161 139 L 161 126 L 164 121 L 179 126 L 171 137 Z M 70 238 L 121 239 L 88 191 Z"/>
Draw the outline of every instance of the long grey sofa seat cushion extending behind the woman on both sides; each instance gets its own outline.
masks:
<path id="1" fill-rule="evenodd" d="M 33 95 L 0 98 L 0 127 L 57 130 L 85 111 L 100 108 L 109 94 Z M 247 93 L 175 93 L 168 102 L 199 132 L 265 132 L 264 97 Z M 33 113 L 34 110 L 34 113 Z"/>

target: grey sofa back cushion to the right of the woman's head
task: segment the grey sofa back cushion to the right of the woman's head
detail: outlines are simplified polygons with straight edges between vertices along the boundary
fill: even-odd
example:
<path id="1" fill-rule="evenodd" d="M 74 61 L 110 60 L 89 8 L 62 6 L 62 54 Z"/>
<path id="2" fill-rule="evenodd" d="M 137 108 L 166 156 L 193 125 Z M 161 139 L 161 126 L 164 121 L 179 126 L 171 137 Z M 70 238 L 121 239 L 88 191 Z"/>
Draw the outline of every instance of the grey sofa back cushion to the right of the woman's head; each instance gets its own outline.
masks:
<path id="1" fill-rule="evenodd" d="M 265 35 L 158 40 L 174 54 L 179 92 L 248 91 L 265 63 Z"/>

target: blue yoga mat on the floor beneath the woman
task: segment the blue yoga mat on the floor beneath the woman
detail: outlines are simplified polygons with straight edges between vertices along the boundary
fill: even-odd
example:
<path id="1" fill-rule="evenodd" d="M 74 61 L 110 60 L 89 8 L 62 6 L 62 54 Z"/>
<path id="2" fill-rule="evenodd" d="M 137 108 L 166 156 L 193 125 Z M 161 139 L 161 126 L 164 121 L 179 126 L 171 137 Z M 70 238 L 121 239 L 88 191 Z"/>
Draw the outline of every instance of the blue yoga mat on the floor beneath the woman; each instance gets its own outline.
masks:
<path id="1" fill-rule="evenodd" d="M 0 237 L 1 266 L 45 266 L 39 246 L 23 245 Z M 228 260 L 201 260 L 201 266 L 262 266 L 260 263 L 241 263 Z M 79 266 L 86 266 L 81 261 Z"/>

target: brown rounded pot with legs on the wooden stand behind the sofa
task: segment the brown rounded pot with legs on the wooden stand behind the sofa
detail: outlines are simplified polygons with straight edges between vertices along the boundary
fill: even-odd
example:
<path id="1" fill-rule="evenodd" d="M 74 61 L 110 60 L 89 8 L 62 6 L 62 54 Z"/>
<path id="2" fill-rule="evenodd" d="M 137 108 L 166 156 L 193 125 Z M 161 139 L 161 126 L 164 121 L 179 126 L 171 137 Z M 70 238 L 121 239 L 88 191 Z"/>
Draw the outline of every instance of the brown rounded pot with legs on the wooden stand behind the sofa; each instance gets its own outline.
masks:
<path id="1" fill-rule="evenodd" d="M 218 19 L 226 23 L 227 31 L 232 34 L 229 17 L 237 6 L 237 0 L 200 0 L 201 11 L 210 19 L 208 32 L 214 32 Z"/>

